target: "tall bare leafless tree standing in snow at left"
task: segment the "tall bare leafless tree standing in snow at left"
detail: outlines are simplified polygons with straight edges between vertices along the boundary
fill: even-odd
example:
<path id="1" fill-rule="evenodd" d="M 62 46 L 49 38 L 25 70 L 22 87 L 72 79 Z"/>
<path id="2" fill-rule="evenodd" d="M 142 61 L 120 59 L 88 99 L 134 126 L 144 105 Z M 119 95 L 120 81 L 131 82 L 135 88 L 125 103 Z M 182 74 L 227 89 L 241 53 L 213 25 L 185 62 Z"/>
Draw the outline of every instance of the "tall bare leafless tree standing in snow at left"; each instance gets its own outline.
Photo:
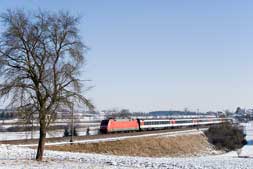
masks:
<path id="1" fill-rule="evenodd" d="M 75 102 L 93 108 L 82 96 L 78 78 L 84 63 L 78 17 L 68 12 L 7 10 L 1 15 L 0 96 L 20 112 L 38 114 L 37 160 L 42 160 L 46 131 L 56 112 Z M 26 114 L 26 116 L 29 116 Z"/>

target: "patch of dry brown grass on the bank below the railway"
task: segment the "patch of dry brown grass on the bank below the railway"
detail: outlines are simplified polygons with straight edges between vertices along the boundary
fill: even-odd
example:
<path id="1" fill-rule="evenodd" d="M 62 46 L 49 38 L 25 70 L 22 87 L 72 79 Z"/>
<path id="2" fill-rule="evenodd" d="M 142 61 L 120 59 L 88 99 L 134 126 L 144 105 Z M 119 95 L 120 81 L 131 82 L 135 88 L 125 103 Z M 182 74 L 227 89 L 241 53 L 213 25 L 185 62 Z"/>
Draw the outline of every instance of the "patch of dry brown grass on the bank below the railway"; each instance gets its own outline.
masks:
<path id="1" fill-rule="evenodd" d="M 47 149 L 69 152 L 103 153 L 113 155 L 164 157 L 190 156 L 208 153 L 209 143 L 204 135 L 176 137 L 145 137 L 119 141 L 47 146 Z"/>

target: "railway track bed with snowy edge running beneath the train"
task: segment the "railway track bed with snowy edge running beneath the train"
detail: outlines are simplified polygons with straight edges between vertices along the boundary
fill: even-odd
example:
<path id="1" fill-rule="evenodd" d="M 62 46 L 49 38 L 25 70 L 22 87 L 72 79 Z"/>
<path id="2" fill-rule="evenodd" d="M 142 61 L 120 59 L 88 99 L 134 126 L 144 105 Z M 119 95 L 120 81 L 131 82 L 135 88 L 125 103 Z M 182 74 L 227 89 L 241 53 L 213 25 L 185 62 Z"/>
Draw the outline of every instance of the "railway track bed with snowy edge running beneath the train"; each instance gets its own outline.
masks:
<path id="1" fill-rule="evenodd" d="M 169 133 L 177 133 L 182 131 L 192 131 L 196 128 L 185 127 L 185 128 L 175 128 L 175 129 L 166 129 L 166 130 L 153 130 L 153 131 L 141 131 L 141 132 L 129 132 L 129 133 L 113 133 L 113 134 L 99 134 L 99 135 L 90 135 L 90 136 L 75 136 L 73 137 L 73 143 L 88 143 L 88 142 L 98 142 L 105 140 L 117 140 L 131 137 L 146 137 L 146 136 L 155 136 L 163 135 Z M 207 127 L 201 127 L 199 130 L 205 130 Z M 57 144 L 70 144 L 70 137 L 57 137 L 57 138 L 47 138 L 46 145 L 57 145 Z M 13 144 L 20 146 L 37 146 L 38 139 L 29 139 L 29 140 L 8 140 L 0 141 L 0 144 Z"/>

